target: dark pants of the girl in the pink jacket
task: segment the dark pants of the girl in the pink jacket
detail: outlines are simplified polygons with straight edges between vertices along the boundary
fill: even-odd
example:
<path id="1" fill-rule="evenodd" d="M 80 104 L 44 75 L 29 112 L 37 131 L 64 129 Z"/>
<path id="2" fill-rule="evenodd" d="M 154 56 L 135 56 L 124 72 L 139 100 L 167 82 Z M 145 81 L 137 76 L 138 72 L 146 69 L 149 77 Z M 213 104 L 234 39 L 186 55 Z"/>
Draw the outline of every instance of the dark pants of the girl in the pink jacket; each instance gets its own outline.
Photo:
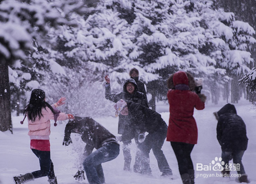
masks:
<path id="1" fill-rule="evenodd" d="M 33 153 L 39 158 L 40 170 L 32 172 L 34 178 L 48 176 L 49 179 L 55 177 L 50 151 L 40 151 L 32 149 Z"/>

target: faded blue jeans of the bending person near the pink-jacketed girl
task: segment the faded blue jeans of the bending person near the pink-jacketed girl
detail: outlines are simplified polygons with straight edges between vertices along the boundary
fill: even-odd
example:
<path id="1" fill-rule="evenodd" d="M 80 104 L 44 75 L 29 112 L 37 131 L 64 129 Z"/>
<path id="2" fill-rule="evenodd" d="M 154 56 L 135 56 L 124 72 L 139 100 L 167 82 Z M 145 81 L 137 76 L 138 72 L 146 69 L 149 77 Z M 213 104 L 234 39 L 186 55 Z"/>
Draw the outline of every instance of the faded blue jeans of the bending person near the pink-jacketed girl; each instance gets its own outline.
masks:
<path id="1" fill-rule="evenodd" d="M 101 184 L 105 182 L 101 163 L 113 160 L 118 154 L 119 144 L 112 142 L 97 149 L 84 159 L 83 167 L 90 184 Z"/>

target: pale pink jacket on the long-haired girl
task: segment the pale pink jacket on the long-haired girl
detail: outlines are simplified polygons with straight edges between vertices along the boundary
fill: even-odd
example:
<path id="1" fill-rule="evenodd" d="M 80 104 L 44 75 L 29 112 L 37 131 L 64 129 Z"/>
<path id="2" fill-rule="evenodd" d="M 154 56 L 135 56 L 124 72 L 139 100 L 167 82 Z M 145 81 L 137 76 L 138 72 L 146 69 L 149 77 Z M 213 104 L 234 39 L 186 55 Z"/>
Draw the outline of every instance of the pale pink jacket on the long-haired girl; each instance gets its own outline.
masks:
<path id="1" fill-rule="evenodd" d="M 53 106 L 53 105 L 52 105 Z M 42 116 L 36 118 L 34 122 L 28 119 L 28 128 L 30 140 L 50 140 L 51 124 L 50 120 L 54 120 L 54 114 L 49 107 L 42 108 Z M 68 114 L 59 113 L 57 120 L 67 120 Z"/>

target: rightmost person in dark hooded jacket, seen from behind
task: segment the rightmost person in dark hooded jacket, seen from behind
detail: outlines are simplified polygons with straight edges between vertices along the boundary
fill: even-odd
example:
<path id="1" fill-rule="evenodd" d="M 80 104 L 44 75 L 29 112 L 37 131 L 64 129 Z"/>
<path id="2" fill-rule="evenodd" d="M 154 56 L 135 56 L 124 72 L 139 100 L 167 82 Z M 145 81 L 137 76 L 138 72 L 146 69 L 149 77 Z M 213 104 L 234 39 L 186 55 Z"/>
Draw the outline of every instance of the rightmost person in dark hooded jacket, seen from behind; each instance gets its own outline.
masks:
<path id="1" fill-rule="evenodd" d="M 237 110 L 232 104 L 224 105 L 218 112 L 214 112 L 217 124 L 217 139 L 221 145 L 222 160 L 225 163 L 223 174 L 229 175 L 228 162 L 233 158 L 233 163 L 237 168 L 239 182 L 249 182 L 242 164 L 242 156 L 247 149 L 248 138 L 246 136 L 246 126 L 244 121 L 237 114 Z"/>

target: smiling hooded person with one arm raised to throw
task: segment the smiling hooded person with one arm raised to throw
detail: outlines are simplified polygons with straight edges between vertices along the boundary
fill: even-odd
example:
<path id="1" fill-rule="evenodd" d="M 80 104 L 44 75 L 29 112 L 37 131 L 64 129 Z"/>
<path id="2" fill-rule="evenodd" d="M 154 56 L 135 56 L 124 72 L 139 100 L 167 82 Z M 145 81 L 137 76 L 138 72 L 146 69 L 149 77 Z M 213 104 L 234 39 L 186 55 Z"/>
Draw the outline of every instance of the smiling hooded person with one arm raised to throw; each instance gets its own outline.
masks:
<path id="1" fill-rule="evenodd" d="M 133 101 L 148 107 L 145 95 L 138 91 L 138 86 L 134 79 L 127 79 L 123 85 L 123 91 L 119 94 L 111 93 L 109 76 L 105 76 L 105 81 L 106 81 L 106 84 L 105 84 L 106 99 L 115 103 L 120 99 L 124 99 L 127 101 Z M 119 141 L 123 142 L 123 147 L 122 147 L 123 156 L 124 156 L 123 170 L 129 171 L 131 167 L 131 160 L 132 160 L 131 150 L 129 145 L 132 143 L 132 141 L 127 137 L 130 137 L 130 134 L 133 135 L 136 130 L 134 130 L 134 128 L 131 126 L 126 125 L 126 122 L 127 122 L 126 117 L 119 115 L 118 134 L 122 134 L 122 136 L 118 138 L 119 138 Z M 135 139 L 135 142 L 136 144 L 138 144 L 136 139 Z"/>

